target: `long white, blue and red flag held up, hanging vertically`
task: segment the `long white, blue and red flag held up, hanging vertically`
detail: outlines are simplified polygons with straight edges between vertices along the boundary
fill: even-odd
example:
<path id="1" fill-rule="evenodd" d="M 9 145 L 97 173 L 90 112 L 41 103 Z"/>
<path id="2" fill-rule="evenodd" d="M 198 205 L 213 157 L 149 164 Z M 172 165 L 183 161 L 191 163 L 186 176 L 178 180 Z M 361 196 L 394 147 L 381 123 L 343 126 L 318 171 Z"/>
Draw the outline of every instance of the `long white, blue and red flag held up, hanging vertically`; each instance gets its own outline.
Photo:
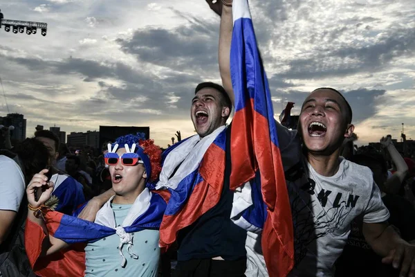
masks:
<path id="1" fill-rule="evenodd" d="M 231 131 L 230 186 L 236 190 L 247 186 L 249 183 L 246 182 L 255 179 L 256 175 L 260 177 L 260 181 L 251 181 L 248 186 L 261 186 L 262 200 L 268 212 L 265 215 L 261 213 L 266 216 L 261 244 L 268 274 L 272 277 L 286 276 L 294 264 L 293 220 L 273 103 L 257 48 L 248 1 L 234 0 L 232 6 L 234 28 L 230 71 L 235 114 Z M 258 191 L 250 189 L 252 195 Z"/>

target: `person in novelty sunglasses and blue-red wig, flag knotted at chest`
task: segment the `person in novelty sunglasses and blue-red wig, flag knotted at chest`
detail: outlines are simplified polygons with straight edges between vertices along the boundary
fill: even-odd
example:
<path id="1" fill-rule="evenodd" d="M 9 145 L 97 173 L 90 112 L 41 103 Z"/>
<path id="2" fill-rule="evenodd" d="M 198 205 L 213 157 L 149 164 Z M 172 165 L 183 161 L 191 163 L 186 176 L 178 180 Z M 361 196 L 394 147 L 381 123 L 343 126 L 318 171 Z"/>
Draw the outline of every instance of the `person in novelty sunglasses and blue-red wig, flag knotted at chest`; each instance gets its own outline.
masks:
<path id="1" fill-rule="evenodd" d="M 157 276 L 159 226 L 165 197 L 151 190 L 161 170 L 161 150 L 144 134 L 122 136 L 108 145 L 104 155 L 111 173 L 113 195 L 98 211 L 95 222 L 50 211 L 46 202 L 53 184 L 45 170 L 33 177 L 26 190 L 29 202 L 26 252 L 40 276 Z M 35 189 L 42 188 L 39 199 Z M 46 228 L 47 227 L 47 228 Z M 48 236 L 47 236 L 48 235 Z M 41 238 L 41 240 L 39 240 Z M 42 241 L 49 240 L 50 247 Z M 84 249 L 65 252 L 73 243 Z M 44 249 L 42 249 L 44 247 Z M 48 261 L 42 254 L 61 251 L 64 258 Z"/>

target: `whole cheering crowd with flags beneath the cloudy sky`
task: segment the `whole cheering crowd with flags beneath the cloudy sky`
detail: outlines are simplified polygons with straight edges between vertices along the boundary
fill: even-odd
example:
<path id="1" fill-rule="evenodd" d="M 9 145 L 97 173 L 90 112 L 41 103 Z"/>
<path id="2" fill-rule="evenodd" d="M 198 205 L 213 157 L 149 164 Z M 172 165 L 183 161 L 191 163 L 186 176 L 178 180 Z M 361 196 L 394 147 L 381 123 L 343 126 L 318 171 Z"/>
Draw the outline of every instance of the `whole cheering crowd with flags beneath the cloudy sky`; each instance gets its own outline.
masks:
<path id="1" fill-rule="evenodd" d="M 391 136 L 354 149 L 330 87 L 297 130 L 275 121 L 247 1 L 208 4 L 222 85 L 189 99 L 196 135 L 71 154 L 50 131 L 11 145 L 3 130 L 0 276 L 415 277 L 415 153 Z"/>

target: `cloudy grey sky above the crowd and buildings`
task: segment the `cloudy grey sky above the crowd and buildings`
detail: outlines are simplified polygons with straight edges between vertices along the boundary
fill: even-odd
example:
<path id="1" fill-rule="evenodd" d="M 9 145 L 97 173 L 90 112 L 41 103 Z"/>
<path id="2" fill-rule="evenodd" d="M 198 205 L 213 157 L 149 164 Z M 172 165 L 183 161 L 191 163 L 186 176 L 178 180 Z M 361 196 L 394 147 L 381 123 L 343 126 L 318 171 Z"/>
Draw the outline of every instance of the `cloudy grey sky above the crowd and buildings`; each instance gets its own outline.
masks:
<path id="1" fill-rule="evenodd" d="M 122 4 L 120 4 L 122 3 Z M 252 0 L 275 114 L 317 87 L 351 102 L 359 144 L 415 139 L 413 0 Z M 43 21 L 48 34 L 0 31 L 0 77 L 11 112 L 85 132 L 149 126 L 165 147 L 194 134 L 190 102 L 219 82 L 219 17 L 205 0 L 0 0 L 6 19 Z M 4 98 L 0 115 L 7 113 Z"/>

